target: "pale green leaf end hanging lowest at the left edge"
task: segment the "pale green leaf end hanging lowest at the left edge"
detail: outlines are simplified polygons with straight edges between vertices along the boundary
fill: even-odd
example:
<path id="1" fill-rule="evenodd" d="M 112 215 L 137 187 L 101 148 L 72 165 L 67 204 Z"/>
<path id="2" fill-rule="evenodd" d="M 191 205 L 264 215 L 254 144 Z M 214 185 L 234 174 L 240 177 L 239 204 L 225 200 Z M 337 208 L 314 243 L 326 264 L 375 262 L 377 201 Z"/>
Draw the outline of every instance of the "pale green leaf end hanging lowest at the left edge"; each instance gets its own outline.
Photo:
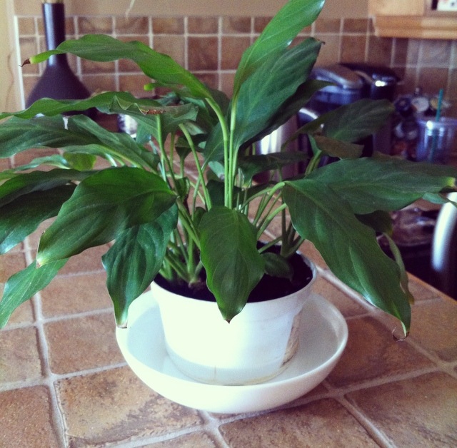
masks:
<path id="1" fill-rule="evenodd" d="M 12 312 L 21 303 L 26 302 L 56 276 L 59 269 L 66 263 L 66 260 L 59 260 L 55 263 L 36 268 L 36 263 L 32 263 L 24 270 L 19 271 L 9 278 L 6 282 L 3 297 L 0 301 L 0 328 L 6 325 Z"/>

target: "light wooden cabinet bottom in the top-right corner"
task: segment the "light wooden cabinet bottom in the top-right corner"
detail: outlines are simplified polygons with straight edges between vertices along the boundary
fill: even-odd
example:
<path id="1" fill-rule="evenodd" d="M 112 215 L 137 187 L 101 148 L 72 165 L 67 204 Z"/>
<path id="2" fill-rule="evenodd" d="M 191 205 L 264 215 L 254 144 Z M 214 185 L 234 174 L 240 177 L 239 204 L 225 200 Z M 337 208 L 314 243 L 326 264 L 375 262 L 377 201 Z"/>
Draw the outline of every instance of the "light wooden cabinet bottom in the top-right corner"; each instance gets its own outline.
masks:
<path id="1" fill-rule="evenodd" d="M 457 39 L 457 14 L 432 11 L 431 0 L 368 0 L 377 36 Z"/>

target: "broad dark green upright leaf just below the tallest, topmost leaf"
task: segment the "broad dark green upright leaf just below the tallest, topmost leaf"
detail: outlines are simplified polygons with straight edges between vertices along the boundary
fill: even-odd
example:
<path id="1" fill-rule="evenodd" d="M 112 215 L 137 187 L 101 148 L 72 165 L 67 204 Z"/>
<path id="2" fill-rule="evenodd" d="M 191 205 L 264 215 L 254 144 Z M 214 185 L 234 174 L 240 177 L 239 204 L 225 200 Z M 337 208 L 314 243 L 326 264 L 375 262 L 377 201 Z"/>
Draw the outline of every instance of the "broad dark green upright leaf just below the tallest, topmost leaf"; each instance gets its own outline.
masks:
<path id="1" fill-rule="evenodd" d="M 270 56 L 240 87 L 236 101 L 235 148 L 268 127 L 271 118 L 306 81 L 321 42 L 308 38 Z"/>

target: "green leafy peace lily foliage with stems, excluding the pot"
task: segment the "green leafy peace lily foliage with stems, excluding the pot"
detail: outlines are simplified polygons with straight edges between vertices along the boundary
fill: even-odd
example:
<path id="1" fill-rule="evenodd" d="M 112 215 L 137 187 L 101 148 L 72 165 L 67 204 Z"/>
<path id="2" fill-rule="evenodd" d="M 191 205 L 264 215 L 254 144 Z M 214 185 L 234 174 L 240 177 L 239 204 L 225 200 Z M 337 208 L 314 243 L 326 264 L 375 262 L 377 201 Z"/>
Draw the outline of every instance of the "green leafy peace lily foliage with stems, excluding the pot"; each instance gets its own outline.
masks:
<path id="1" fill-rule="evenodd" d="M 389 237 L 397 259 L 384 255 L 376 235 L 391 232 L 389 212 L 418 198 L 446 200 L 441 193 L 455 189 L 456 172 L 361 157 L 353 142 L 382 125 L 392 112 L 387 101 L 359 101 L 303 126 L 299 133 L 308 136 L 311 157 L 287 146 L 276 154 L 255 152 L 256 141 L 327 85 L 309 78 L 321 42 L 296 39 L 323 3 L 283 6 L 244 51 L 231 98 L 139 41 L 87 35 L 26 61 L 62 53 L 101 62 L 126 58 L 151 78 L 146 90 L 169 93 L 157 99 L 127 92 L 81 101 L 44 98 L 0 115 L 7 118 L 0 123 L 1 158 L 31 148 L 60 150 L 0 175 L 2 254 L 56 217 L 41 235 L 36 260 L 6 282 L 0 324 L 69 258 L 107 243 L 102 263 L 117 325 L 126 325 L 129 305 L 158 274 L 191 287 L 206 281 L 221 315 L 231 320 L 263 275 L 290 275 L 288 259 L 310 240 L 336 277 L 398 317 L 407 333 L 411 295 L 401 257 Z M 136 138 L 106 131 L 82 113 L 91 108 L 131 116 Z M 320 166 L 323 156 L 339 160 Z M 105 163 L 97 164 L 100 159 Z M 307 163 L 304 173 L 281 178 L 281 168 L 297 161 Z M 188 175 L 189 163 L 196 178 Z M 265 171 L 276 175 L 257 183 L 255 175 Z M 275 218 L 281 235 L 259 245 Z M 279 253 L 268 252 L 273 244 Z"/>

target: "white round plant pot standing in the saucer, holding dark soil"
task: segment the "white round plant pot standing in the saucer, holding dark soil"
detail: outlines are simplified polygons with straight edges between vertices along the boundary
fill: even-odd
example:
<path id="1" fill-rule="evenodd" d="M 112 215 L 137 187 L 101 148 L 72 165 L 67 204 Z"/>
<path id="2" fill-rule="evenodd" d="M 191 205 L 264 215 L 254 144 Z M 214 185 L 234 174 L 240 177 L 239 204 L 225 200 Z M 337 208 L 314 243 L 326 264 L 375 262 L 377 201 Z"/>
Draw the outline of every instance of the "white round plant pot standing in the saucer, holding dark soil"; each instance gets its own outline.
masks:
<path id="1" fill-rule="evenodd" d="M 230 323 L 216 302 L 176 295 L 151 285 L 159 303 L 166 350 L 176 367 L 200 382 L 248 385 L 281 373 L 298 348 L 301 310 L 316 278 L 278 299 L 248 303 Z"/>

